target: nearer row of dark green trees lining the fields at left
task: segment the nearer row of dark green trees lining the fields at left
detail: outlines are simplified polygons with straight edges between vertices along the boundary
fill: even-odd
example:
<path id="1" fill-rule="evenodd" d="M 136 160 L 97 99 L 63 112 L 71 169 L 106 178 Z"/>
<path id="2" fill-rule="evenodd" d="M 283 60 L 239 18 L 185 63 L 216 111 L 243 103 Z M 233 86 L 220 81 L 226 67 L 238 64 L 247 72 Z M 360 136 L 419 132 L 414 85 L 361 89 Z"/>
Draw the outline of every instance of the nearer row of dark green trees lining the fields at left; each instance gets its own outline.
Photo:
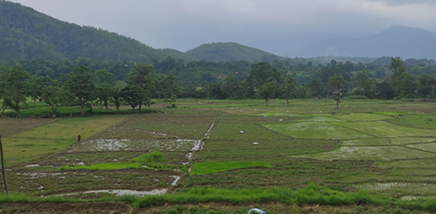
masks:
<path id="1" fill-rule="evenodd" d="M 138 107 L 150 106 L 151 98 L 174 99 L 178 84 L 172 74 L 155 74 L 150 64 L 138 64 L 128 75 L 127 81 L 116 81 L 106 69 L 94 70 L 85 65 L 75 67 L 61 80 L 49 76 L 34 77 L 20 66 L 5 67 L 0 72 L 1 112 L 6 108 L 20 116 L 23 103 L 30 97 L 46 103 L 56 117 L 57 106 L 79 105 L 81 116 L 84 107 L 99 102 L 108 108 L 113 103 L 117 111 L 122 102 L 133 111 Z"/>

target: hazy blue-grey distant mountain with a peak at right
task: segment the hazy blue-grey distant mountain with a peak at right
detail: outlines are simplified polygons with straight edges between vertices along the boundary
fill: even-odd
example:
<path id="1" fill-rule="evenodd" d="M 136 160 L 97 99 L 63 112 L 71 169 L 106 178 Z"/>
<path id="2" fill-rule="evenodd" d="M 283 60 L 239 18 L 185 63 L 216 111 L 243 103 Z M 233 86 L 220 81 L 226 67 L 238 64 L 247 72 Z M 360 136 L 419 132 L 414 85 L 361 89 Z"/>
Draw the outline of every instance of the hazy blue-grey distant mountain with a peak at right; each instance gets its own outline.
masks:
<path id="1" fill-rule="evenodd" d="M 341 37 L 308 48 L 304 56 L 347 56 L 436 59 L 436 33 L 394 24 L 370 37 Z"/>

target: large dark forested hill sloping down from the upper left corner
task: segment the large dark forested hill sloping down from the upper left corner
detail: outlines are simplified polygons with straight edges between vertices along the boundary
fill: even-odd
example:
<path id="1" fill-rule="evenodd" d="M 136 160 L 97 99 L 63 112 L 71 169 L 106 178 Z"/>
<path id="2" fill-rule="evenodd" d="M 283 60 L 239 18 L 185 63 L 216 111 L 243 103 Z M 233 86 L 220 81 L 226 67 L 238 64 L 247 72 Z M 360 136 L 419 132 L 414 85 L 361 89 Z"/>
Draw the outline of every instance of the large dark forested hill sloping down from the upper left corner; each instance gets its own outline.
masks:
<path id="1" fill-rule="evenodd" d="M 107 30 L 60 21 L 19 3 L 0 0 L 0 61 L 75 60 L 151 62 L 168 56 L 193 60 L 183 52 L 155 49 Z"/>

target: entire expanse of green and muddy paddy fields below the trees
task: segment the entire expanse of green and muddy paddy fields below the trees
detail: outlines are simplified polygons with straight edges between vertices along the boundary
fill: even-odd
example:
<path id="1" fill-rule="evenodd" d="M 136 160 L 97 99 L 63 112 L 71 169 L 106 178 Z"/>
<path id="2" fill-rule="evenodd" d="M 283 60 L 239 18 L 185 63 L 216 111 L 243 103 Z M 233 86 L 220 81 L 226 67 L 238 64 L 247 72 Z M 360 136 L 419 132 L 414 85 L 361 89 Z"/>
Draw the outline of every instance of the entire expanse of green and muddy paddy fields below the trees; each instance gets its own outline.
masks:
<path id="1" fill-rule="evenodd" d="M 136 213 L 436 211 L 435 105 L 186 99 L 163 113 L 155 102 L 135 115 L 0 118 L 11 192 L 124 201 Z"/>

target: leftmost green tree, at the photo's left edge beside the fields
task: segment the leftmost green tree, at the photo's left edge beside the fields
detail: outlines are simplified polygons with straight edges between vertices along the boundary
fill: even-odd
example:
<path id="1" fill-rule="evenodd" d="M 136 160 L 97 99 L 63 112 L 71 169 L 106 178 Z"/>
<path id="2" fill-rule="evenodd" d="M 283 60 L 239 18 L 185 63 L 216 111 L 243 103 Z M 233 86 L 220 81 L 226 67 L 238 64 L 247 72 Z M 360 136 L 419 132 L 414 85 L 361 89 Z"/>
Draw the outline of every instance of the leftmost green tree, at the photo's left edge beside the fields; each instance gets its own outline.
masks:
<path id="1" fill-rule="evenodd" d="M 24 93 L 30 85 L 31 76 L 20 66 L 9 67 L 0 75 L 0 88 L 3 88 L 3 105 L 12 108 L 16 118 L 20 117 L 20 103 L 25 102 Z"/>

